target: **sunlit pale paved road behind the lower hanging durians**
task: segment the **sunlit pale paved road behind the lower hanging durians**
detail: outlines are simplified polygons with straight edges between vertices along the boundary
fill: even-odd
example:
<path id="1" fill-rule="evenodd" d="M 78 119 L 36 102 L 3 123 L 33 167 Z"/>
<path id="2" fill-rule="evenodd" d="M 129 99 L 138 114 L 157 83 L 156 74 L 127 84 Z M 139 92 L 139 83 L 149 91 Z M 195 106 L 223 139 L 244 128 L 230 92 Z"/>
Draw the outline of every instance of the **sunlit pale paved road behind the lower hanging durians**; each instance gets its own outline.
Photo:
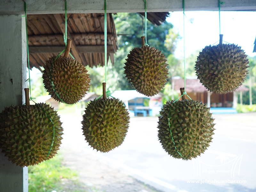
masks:
<path id="1" fill-rule="evenodd" d="M 166 192 L 256 191 L 256 113 L 213 117 L 216 130 L 211 146 L 200 157 L 189 161 L 174 159 L 161 147 L 157 117 L 131 118 L 124 143 L 103 154 L 92 150 L 84 141 L 80 117 L 62 115 L 65 130 L 62 148 L 80 149 L 80 156 L 81 152 L 90 154 Z"/>

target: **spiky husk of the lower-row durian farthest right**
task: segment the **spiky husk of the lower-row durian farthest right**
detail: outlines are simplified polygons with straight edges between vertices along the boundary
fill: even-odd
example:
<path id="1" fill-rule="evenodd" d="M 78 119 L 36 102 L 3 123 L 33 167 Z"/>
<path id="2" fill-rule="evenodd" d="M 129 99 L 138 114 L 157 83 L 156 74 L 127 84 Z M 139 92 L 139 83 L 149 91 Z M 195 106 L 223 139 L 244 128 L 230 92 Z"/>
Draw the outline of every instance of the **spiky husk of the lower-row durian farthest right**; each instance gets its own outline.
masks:
<path id="1" fill-rule="evenodd" d="M 209 111 L 210 108 L 200 101 L 168 101 L 160 111 L 158 122 L 158 138 L 164 150 L 178 159 L 182 158 L 178 152 L 186 159 L 195 158 L 204 153 L 212 142 L 215 130 L 214 119 Z"/>

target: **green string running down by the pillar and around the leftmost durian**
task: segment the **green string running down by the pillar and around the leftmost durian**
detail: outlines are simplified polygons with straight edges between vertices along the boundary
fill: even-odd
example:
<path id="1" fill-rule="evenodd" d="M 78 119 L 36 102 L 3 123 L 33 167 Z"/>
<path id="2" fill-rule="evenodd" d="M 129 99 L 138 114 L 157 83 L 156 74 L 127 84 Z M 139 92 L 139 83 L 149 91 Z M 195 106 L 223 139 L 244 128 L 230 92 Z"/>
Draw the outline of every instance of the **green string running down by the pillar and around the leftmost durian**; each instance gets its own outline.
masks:
<path id="1" fill-rule="evenodd" d="M 25 10 L 25 23 L 26 23 L 26 36 L 27 36 L 27 57 L 28 57 L 28 77 L 29 77 L 29 92 L 30 92 L 30 98 L 29 100 L 33 101 L 35 103 L 36 106 L 38 106 L 38 104 L 33 100 L 34 98 L 31 97 L 31 85 L 30 85 L 30 68 L 29 68 L 29 55 L 28 55 L 28 27 L 27 27 L 27 4 L 26 2 L 24 1 L 24 10 Z M 44 109 L 42 108 L 42 110 L 44 111 Z M 52 122 L 52 119 L 51 117 L 49 117 L 46 113 L 46 111 L 44 111 L 44 113 L 46 114 L 47 118 L 50 119 L 50 121 Z M 53 124 L 53 138 L 52 138 L 52 143 L 51 143 L 51 146 L 50 146 L 50 149 L 48 151 L 48 154 L 47 154 L 47 157 L 50 155 L 51 151 L 52 151 L 52 146 L 53 146 L 53 143 L 54 143 L 54 136 L 55 136 L 55 125 L 54 123 L 52 122 Z"/>

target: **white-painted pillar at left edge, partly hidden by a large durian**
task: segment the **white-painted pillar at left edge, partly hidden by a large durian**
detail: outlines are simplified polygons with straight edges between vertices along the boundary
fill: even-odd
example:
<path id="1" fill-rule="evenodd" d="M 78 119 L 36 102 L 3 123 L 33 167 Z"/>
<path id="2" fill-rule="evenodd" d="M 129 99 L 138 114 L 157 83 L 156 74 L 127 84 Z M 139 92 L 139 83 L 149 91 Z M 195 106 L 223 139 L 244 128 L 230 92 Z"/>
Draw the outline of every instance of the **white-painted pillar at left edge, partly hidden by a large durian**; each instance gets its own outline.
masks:
<path id="1" fill-rule="evenodd" d="M 4 107 L 25 102 L 26 42 L 25 18 L 21 15 L 0 15 L 1 112 Z M 28 192 L 28 168 L 12 164 L 3 153 L 0 153 L 0 191 Z"/>

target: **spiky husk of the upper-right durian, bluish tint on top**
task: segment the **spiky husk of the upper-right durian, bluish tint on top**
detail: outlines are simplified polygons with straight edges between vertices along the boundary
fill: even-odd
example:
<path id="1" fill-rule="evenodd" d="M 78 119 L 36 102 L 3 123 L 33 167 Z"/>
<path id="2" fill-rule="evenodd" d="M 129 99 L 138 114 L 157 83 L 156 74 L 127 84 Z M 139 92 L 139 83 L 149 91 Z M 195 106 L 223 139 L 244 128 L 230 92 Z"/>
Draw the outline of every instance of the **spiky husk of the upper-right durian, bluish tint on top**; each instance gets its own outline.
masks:
<path id="1" fill-rule="evenodd" d="M 196 61 L 196 75 L 208 91 L 223 94 L 235 91 L 248 74 L 247 55 L 235 44 L 206 46 Z"/>

